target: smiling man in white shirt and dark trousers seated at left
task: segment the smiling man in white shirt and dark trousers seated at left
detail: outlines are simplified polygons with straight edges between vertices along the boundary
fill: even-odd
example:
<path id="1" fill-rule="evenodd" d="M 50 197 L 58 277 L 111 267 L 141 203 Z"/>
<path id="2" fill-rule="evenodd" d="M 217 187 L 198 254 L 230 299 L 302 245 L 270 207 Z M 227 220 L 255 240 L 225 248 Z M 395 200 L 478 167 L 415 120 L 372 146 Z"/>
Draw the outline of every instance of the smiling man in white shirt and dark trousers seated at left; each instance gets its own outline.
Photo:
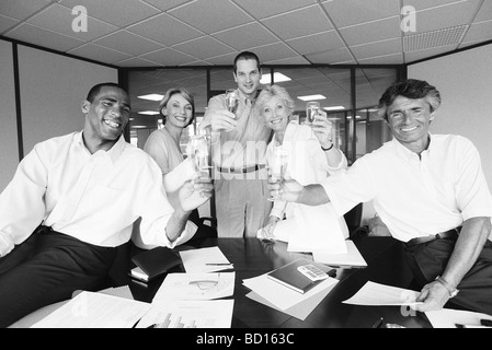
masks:
<path id="1" fill-rule="evenodd" d="M 123 137 L 130 104 L 117 84 L 93 86 L 81 109 L 83 130 L 36 144 L 0 195 L 0 327 L 98 289 L 138 218 L 145 243 L 186 242 L 190 212 L 211 196 L 196 178 L 171 207 L 159 166 Z"/>

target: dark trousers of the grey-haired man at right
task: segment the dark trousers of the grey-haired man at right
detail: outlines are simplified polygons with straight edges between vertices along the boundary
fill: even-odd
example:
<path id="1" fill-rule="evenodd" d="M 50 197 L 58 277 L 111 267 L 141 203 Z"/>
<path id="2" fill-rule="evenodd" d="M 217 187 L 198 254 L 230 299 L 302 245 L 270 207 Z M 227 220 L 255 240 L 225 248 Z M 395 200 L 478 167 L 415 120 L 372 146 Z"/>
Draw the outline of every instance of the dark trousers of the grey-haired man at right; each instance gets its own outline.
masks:
<path id="1" fill-rule="evenodd" d="M 457 237 L 458 235 L 455 235 L 413 246 L 403 244 L 407 262 L 420 288 L 443 275 Z M 492 243 L 490 241 L 487 241 L 476 264 L 465 275 L 458 290 L 458 295 L 450 299 L 449 304 L 492 315 Z M 446 307 L 453 306 L 446 305 Z"/>

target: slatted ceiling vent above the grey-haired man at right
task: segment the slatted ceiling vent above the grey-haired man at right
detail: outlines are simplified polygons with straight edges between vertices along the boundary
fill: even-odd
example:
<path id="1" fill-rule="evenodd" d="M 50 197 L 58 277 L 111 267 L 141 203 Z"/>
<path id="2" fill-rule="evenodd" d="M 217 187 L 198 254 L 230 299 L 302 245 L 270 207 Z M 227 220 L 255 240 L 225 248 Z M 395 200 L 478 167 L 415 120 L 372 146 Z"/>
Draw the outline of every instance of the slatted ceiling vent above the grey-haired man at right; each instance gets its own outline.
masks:
<path id="1" fill-rule="evenodd" d="M 438 31 L 415 33 L 403 36 L 403 50 L 405 52 L 425 50 L 447 45 L 457 45 L 468 28 L 468 25 L 451 26 Z"/>

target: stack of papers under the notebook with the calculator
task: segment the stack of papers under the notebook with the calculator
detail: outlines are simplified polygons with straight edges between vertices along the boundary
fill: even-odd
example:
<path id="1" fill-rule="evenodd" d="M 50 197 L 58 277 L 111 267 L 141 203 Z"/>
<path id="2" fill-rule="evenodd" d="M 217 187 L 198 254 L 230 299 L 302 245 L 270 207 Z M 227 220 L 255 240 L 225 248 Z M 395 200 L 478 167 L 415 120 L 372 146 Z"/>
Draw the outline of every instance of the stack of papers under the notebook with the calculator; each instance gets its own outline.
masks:
<path id="1" fill-rule="evenodd" d="M 268 278 L 268 273 L 243 280 L 243 284 L 251 290 L 247 296 L 301 320 L 309 316 L 339 282 L 328 277 L 307 292 L 299 293 Z"/>

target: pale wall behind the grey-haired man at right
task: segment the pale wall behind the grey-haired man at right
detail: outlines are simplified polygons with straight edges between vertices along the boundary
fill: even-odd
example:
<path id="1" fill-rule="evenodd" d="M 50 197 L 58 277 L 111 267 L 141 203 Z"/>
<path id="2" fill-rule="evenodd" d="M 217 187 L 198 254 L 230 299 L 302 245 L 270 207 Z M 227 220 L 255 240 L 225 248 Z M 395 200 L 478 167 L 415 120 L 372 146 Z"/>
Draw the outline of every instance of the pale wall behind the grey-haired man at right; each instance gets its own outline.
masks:
<path id="1" fill-rule="evenodd" d="M 408 77 L 439 90 L 443 103 L 431 132 L 469 138 L 480 152 L 492 190 L 492 44 L 410 65 Z"/>

